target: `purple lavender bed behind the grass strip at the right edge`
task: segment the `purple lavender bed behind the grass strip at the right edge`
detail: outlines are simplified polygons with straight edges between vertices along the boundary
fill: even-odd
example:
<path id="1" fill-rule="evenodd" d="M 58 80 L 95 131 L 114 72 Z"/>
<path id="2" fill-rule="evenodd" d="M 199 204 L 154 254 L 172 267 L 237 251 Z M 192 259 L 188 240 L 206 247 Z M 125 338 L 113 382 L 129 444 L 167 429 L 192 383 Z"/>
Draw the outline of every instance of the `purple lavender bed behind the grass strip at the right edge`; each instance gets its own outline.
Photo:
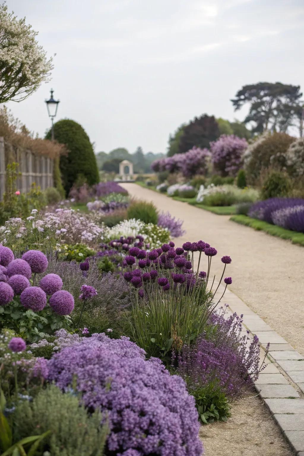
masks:
<path id="1" fill-rule="evenodd" d="M 269 198 L 252 204 L 248 216 L 304 233 L 304 199 Z"/>

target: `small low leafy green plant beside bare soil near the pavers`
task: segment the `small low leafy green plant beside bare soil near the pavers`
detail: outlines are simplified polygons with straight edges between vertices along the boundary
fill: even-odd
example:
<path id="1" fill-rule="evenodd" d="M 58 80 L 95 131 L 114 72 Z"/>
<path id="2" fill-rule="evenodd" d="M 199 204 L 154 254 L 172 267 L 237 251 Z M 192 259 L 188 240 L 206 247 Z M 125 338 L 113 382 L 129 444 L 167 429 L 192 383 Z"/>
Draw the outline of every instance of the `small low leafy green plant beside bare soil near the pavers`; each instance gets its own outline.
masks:
<path id="1" fill-rule="evenodd" d="M 209 383 L 206 386 L 197 386 L 193 390 L 190 388 L 189 393 L 195 398 L 201 423 L 227 421 L 231 416 L 228 399 L 219 385 Z"/>

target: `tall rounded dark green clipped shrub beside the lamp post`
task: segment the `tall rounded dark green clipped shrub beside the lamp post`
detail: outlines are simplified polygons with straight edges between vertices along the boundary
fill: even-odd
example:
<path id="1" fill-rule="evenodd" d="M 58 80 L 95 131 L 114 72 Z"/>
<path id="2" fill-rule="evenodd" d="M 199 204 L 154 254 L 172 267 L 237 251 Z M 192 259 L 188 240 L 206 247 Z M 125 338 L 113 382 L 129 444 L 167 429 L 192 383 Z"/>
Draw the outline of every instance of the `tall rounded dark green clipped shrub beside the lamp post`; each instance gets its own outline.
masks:
<path id="1" fill-rule="evenodd" d="M 60 170 L 66 193 L 69 193 L 79 173 L 85 176 L 89 185 L 96 184 L 99 181 L 96 157 L 82 126 L 74 120 L 62 119 L 54 125 L 54 135 L 55 139 L 65 144 L 69 150 L 67 155 L 60 157 Z M 50 138 L 51 130 L 46 135 L 46 139 Z"/>

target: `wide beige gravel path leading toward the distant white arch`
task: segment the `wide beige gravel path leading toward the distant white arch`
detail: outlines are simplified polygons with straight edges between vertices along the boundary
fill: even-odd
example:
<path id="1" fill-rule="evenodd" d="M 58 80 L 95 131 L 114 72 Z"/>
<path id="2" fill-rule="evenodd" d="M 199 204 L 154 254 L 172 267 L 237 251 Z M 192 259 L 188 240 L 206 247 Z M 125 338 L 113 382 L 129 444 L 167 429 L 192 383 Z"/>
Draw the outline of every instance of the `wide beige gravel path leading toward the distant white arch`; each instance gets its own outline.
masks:
<path id="1" fill-rule="evenodd" d="M 161 193 L 122 184 L 132 197 L 153 201 L 160 211 L 184 220 L 185 241 L 203 239 L 218 250 L 211 274 L 220 278 L 222 255 L 230 255 L 230 289 L 304 356 L 304 248 L 231 222 Z M 201 269 L 204 269 L 201 267 Z"/>

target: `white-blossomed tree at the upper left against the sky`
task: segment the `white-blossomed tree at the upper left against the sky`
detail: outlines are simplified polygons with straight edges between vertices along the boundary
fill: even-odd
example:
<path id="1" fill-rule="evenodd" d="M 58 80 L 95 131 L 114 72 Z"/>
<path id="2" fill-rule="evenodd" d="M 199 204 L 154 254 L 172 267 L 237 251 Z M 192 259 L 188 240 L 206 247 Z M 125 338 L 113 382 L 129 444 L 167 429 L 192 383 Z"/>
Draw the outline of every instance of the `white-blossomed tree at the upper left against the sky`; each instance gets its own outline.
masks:
<path id="1" fill-rule="evenodd" d="M 37 34 L 0 5 L 0 103 L 22 101 L 49 81 L 52 58 L 38 46 Z"/>

